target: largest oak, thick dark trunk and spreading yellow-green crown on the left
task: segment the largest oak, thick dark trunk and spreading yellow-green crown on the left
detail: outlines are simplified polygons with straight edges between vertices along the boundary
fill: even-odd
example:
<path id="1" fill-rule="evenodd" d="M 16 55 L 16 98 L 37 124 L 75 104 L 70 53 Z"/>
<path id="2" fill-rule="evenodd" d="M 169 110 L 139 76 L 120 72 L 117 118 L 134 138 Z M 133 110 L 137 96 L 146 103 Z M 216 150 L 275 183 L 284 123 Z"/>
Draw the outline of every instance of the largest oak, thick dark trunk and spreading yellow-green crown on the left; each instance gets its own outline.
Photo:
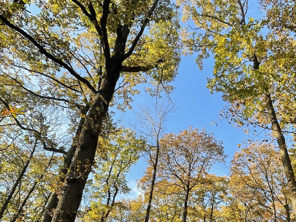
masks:
<path id="1" fill-rule="evenodd" d="M 54 215 L 43 221 L 75 220 L 110 103 L 128 106 L 138 93 L 132 87 L 147 81 L 151 94 L 172 89 L 167 83 L 180 61 L 176 15 L 170 1 L 158 0 L 0 3 L 1 76 L 78 118 L 64 184 L 47 207 Z"/>

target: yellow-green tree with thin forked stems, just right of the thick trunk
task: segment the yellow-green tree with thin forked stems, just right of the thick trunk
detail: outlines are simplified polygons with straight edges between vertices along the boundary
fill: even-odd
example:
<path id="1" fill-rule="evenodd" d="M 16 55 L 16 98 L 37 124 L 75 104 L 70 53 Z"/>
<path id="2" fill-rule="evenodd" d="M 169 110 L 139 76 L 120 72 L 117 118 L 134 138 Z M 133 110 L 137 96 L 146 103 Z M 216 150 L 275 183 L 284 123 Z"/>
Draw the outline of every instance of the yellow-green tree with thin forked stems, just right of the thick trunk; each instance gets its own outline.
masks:
<path id="1" fill-rule="evenodd" d="M 96 159 L 92 172 L 92 200 L 85 221 L 106 221 L 113 207 L 117 205 L 118 194 L 129 194 L 126 173 L 141 157 L 145 141 L 136 139 L 135 132 L 119 128 L 109 139 L 99 139 Z M 86 220 L 87 218 L 87 220 Z"/>

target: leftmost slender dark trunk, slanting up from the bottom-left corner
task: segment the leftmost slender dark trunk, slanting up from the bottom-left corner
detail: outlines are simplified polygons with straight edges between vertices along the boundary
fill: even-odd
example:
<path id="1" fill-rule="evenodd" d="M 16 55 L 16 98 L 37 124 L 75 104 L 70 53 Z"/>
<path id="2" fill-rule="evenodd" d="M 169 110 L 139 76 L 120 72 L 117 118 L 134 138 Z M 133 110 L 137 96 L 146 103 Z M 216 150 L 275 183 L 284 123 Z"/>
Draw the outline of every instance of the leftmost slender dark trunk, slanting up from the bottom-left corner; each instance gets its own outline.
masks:
<path id="1" fill-rule="evenodd" d="M 2 217 L 3 217 L 3 214 L 4 214 L 6 208 L 7 208 L 8 204 L 9 204 L 9 202 L 10 202 L 10 200 L 11 200 L 13 194 L 15 193 L 15 190 L 16 190 L 18 184 L 20 183 L 22 177 L 24 176 L 24 174 L 25 174 L 25 172 L 26 172 L 26 170 L 27 170 L 27 168 L 28 168 L 28 166 L 29 166 L 29 164 L 30 164 L 30 161 L 31 161 L 31 159 L 32 159 L 32 157 L 33 157 L 33 154 L 34 154 L 35 149 L 36 149 L 36 146 L 37 146 L 37 141 L 38 141 L 38 140 L 35 139 L 34 146 L 33 146 L 33 149 L 32 149 L 32 151 L 31 151 L 31 153 L 30 153 L 29 159 L 28 159 L 27 162 L 25 163 L 24 168 L 22 169 L 20 175 L 18 176 L 17 180 L 16 180 L 15 183 L 13 184 L 10 193 L 8 194 L 8 196 L 7 196 L 7 198 L 6 198 L 6 200 L 5 200 L 4 204 L 3 204 L 3 206 L 1 207 L 1 210 L 0 210 L 0 221 L 1 221 Z"/>

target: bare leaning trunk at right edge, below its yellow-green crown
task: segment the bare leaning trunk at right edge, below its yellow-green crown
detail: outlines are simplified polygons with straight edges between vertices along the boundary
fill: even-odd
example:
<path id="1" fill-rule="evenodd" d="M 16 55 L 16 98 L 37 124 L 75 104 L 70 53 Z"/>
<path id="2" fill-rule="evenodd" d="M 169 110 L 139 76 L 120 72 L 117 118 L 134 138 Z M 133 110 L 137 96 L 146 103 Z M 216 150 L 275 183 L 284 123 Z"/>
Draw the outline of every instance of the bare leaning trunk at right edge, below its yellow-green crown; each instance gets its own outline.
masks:
<path id="1" fill-rule="evenodd" d="M 268 116 L 271 120 L 271 128 L 274 130 L 274 134 L 279 145 L 279 153 L 281 156 L 281 162 L 284 166 L 284 172 L 288 181 L 289 194 L 291 198 L 291 202 L 294 209 L 294 214 L 296 216 L 296 182 L 294 171 L 291 165 L 289 153 L 287 150 L 286 139 L 281 131 L 281 127 L 279 125 L 279 121 L 276 118 L 276 113 L 274 111 L 274 106 L 269 93 L 265 94 L 265 102 L 266 109 L 268 112 Z"/>

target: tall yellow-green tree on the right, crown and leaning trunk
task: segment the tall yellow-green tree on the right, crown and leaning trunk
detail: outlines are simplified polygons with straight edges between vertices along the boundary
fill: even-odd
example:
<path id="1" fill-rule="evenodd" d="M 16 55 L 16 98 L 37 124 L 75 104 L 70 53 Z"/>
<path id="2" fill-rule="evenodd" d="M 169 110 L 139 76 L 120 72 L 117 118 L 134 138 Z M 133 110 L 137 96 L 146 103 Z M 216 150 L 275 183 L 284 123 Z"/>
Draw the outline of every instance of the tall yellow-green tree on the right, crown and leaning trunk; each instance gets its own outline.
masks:
<path id="1" fill-rule="evenodd" d="M 284 20 L 274 16 L 286 16 L 293 23 L 288 12 L 294 3 L 272 2 L 260 3 L 268 9 L 266 16 L 258 18 L 254 13 L 248 18 L 247 0 L 180 1 L 184 21 L 192 20 L 202 30 L 183 36 L 189 50 L 199 52 L 196 61 L 200 68 L 202 59 L 214 55 L 214 76 L 208 80 L 208 88 L 222 92 L 229 103 L 224 117 L 238 126 L 255 124 L 273 130 L 296 208 L 296 182 L 284 136 L 295 131 L 295 36 L 284 27 Z"/>

